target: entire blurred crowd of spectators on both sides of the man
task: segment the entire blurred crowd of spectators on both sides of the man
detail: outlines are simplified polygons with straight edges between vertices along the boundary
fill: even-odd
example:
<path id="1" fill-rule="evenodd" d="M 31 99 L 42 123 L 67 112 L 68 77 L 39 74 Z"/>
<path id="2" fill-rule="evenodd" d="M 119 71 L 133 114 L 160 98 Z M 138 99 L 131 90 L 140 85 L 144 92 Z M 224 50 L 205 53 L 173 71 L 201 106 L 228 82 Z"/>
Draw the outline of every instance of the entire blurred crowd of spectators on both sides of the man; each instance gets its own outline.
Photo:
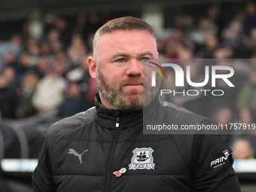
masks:
<path id="1" fill-rule="evenodd" d="M 208 8 L 206 16 L 175 18 L 175 26 L 157 35 L 160 58 L 166 59 L 248 59 L 243 62 L 222 60 L 219 66 L 235 70 L 235 87 L 216 81 L 215 90 L 224 90 L 221 97 L 172 96 L 172 102 L 188 108 L 214 123 L 255 123 L 256 114 L 256 6 L 248 2 L 229 23 L 222 23 L 220 11 Z M 76 23 L 64 17 L 44 17 L 40 39 L 29 35 L 29 23 L 23 32 L 13 35 L 8 49 L 0 56 L 0 111 L 2 118 L 23 119 L 37 114 L 69 117 L 94 105 L 96 81 L 90 78 L 87 57 L 92 56 L 93 35 L 104 23 L 96 14 L 78 14 Z M 72 26 L 72 27 L 70 27 Z M 220 71 L 226 73 L 226 71 Z M 202 82 L 202 63 L 190 64 L 190 78 Z M 172 72 L 168 77 L 172 79 Z M 174 77 L 173 77 L 174 79 Z M 168 81 L 169 88 L 175 89 Z M 206 85 L 205 88 L 207 88 Z M 190 90 L 190 85 L 184 89 Z M 235 158 L 254 158 L 256 132 L 221 133 L 232 146 Z"/>

